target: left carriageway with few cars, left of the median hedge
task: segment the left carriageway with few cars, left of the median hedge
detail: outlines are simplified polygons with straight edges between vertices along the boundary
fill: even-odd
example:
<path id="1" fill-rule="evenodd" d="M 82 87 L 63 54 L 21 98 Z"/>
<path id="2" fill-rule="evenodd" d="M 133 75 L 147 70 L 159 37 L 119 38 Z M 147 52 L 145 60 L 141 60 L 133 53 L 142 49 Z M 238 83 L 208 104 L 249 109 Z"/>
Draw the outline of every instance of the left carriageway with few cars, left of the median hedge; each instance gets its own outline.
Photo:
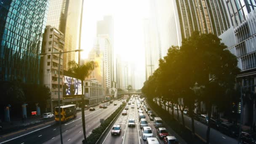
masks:
<path id="1" fill-rule="evenodd" d="M 95 111 L 85 110 L 86 135 L 100 125 L 100 119 L 106 119 L 120 106 L 121 101 L 114 101 L 117 106 L 110 104 L 107 109 L 96 107 Z M 62 125 L 64 144 L 79 144 L 83 140 L 81 112 L 77 117 Z M 27 130 L 20 130 L 0 137 L 0 144 L 60 144 L 59 124 L 51 121 L 37 125 Z"/>

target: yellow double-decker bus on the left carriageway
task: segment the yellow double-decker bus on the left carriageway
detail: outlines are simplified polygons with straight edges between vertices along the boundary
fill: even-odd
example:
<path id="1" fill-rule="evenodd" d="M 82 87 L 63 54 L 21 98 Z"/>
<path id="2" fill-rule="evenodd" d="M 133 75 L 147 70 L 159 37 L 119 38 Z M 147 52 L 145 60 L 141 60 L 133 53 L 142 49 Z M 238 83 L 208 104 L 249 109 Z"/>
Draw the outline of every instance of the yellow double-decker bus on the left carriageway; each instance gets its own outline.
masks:
<path id="1" fill-rule="evenodd" d="M 75 104 L 68 104 L 60 107 L 61 118 L 59 119 L 59 107 L 55 107 L 55 121 L 67 122 L 77 117 Z"/>

